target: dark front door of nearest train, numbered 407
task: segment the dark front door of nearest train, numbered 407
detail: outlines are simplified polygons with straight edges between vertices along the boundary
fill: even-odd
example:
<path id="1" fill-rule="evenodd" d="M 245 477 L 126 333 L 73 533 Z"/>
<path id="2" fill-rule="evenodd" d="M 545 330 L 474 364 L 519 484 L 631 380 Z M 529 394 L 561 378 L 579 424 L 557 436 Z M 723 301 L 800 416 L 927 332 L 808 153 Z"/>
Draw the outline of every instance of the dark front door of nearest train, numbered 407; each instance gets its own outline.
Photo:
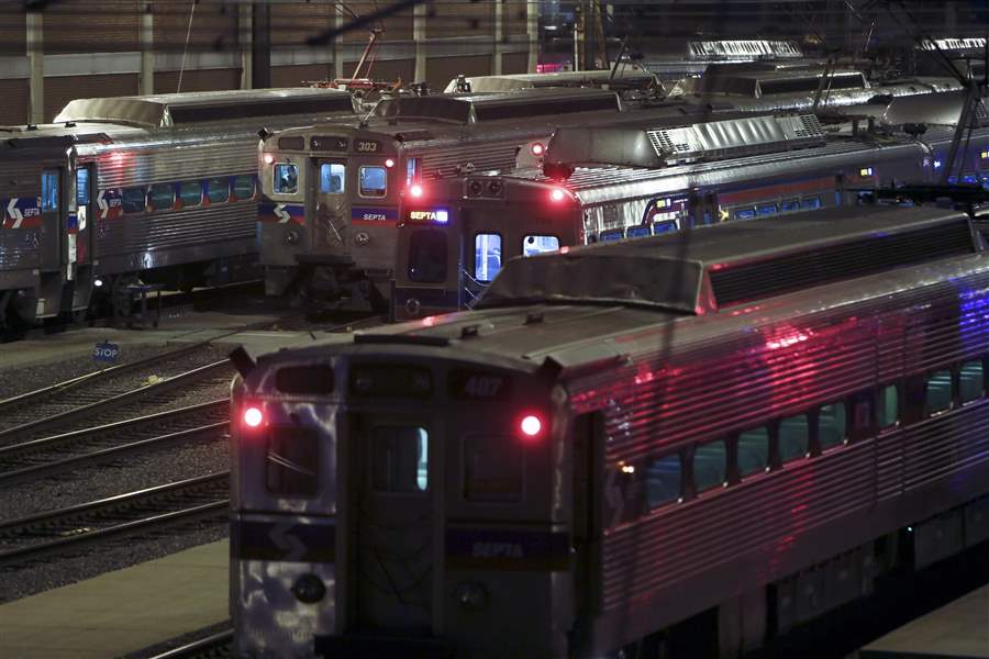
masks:
<path id="1" fill-rule="evenodd" d="M 351 433 L 351 633 L 429 636 L 442 573 L 441 447 L 412 415 L 357 415 Z"/>

